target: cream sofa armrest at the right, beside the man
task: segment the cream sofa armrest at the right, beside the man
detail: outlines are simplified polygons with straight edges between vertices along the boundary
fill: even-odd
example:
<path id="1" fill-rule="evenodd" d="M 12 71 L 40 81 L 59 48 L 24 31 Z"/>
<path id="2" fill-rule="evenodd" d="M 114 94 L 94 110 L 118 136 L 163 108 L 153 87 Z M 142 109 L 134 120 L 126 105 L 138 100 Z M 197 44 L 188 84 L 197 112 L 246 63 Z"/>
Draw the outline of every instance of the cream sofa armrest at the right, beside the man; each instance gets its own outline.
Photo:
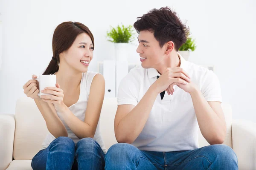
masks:
<path id="1" fill-rule="evenodd" d="M 256 170 L 256 123 L 233 120 L 232 148 L 238 158 L 239 170 Z"/>

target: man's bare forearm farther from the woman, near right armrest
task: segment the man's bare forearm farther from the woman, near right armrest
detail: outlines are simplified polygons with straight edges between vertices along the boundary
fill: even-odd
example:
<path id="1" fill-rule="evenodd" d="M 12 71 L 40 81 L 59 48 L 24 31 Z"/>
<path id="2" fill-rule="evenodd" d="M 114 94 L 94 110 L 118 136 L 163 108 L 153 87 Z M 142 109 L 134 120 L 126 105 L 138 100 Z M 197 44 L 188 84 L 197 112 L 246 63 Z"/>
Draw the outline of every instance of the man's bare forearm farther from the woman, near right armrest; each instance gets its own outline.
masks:
<path id="1" fill-rule="evenodd" d="M 202 135 L 209 144 L 222 144 L 226 136 L 225 122 L 213 111 L 199 89 L 190 95 Z"/>

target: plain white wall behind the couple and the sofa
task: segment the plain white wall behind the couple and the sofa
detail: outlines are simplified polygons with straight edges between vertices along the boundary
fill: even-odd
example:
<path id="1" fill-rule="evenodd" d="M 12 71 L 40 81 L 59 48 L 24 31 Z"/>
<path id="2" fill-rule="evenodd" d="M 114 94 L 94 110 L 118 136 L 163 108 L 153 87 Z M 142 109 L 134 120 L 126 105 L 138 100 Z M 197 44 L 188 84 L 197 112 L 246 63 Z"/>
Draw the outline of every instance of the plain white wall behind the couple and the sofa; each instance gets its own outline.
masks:
<path id="1" fill-rule="evenodd" d="M 1 0 L 0 113 L 15 113 L 16 100 L 24 96 L 23 84 L 46 68 L 52 57 L 52 34 L 61 22 L 79 21 L 93 32 L 95 52 L 89 70 L 97 71 L 98 61 L 113 58 L 113 44 L 105 37 L 110 25 L 133 24 L 161 6 L 172 7 L 187 21 L 198 45 L 189 60 L 215 65 L 223 102 L 232 105 L 233 118 L 256 122 L 255 0 Z M 135 49 L 131 46 L 130 62 L 139 59 Z"/>

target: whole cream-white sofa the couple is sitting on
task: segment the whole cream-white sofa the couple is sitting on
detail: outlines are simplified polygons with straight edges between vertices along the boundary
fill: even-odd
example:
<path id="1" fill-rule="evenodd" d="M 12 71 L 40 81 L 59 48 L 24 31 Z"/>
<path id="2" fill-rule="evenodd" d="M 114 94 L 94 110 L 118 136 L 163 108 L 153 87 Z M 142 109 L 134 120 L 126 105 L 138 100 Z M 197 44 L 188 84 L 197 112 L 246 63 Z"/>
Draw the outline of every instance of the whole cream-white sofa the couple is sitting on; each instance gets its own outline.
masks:
<path id="1" fill-rule="evenodd" d="M 116 143 L 114 116 L 116 98 L 106 98 L 102 106 L 100 130 L 107 149 Z M 256 124 L 233 120 L 230 105 L 222 105 L 227 122 L 224 144 L 235 151 L 240 170 L 256 170 Z M 0 114 L 0 170 L 32 170 L 31 159 L 41 148 L 48 130 L 33 99 L 17 100 L 16 113 Z M 200 147 L 209 145 L 199 135 Z"/>

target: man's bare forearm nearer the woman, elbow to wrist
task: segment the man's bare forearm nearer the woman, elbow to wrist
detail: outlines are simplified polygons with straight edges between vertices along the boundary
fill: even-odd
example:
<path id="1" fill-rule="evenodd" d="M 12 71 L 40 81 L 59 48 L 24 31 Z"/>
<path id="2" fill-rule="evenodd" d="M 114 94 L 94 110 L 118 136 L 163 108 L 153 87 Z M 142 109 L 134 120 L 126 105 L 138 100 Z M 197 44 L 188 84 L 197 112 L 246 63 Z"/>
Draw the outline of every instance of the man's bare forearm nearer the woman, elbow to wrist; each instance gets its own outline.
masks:
<path id="1" fill-rule="evenodd" d="M 151 86 L 135 108 L 121 119 L 116 128 L 119 143 L 132 143 L 143 130 L 158 93 Z"/>

